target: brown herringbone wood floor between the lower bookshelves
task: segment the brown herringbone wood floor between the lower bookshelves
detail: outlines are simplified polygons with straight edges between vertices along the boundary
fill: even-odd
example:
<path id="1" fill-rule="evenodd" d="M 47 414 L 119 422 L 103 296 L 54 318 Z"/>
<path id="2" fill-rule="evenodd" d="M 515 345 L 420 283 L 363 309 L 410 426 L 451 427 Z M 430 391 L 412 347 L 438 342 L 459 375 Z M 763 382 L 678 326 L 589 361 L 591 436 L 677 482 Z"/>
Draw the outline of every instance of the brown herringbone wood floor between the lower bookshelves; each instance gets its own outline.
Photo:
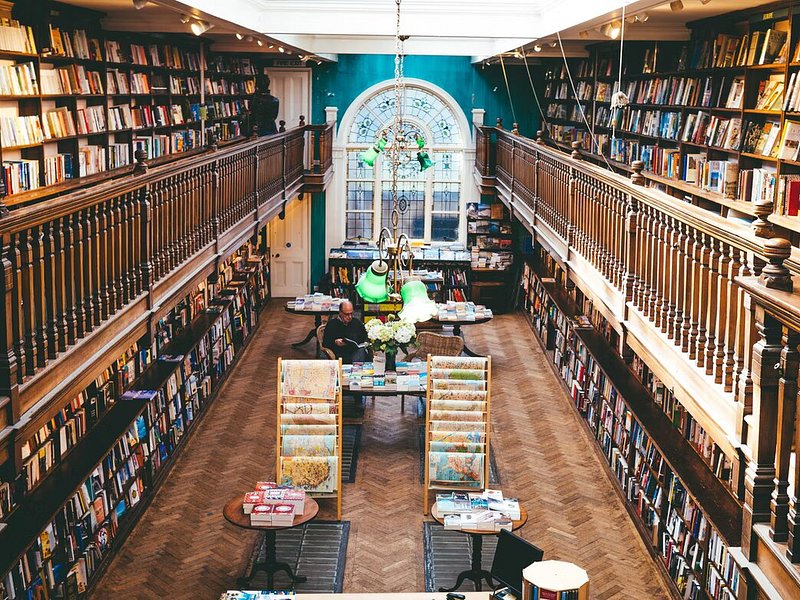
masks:
<path id="1" fill-rule="evenodd" d="M 215 599 L 235 586 L 255 533 L 229 525 L 222 506 L 275 474 L 276 358 L 309 357 L 289 342 L 311 325 L 266 309 L 221 395 L 175 469 L 115 557 L 99 599 Z M 569 399 L 521 315 L 465 328 L 473 350 L 491 354 L 493 444 L 507 495 L 529 520 L 519 533 L 589 573 L 591 597 L 668 598 L 667 587 L 608 480 Z M 351 523 L 345 592 L 424 591 L 422 486 L 413 401 L 368 401 L 356 483 L 345 484 Z M 327 505 L 325 503 L 328 503 Z M 320 518 L 334 518 L 323 501 Z"/>

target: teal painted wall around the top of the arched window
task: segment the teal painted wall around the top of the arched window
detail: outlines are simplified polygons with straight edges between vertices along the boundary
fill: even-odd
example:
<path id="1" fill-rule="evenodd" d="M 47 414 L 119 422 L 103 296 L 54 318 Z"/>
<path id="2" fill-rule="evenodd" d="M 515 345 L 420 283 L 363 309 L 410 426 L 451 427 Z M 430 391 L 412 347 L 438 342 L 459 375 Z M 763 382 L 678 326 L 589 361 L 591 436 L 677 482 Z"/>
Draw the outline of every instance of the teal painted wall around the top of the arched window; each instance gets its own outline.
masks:
<path id="1" fill-rule="evenodd" d="M 535 77 L 535 68 L 531 75 Z M 404 61 L 406 77 L 430 81 L 455 98 L 467 122 L 472 109 L 486 111 L 485 123 L 494 125 L 502 117 L 503 127 L 514 122 L 508 92 L 500 65 L 473 65 L 468 56 L 408 56 Z M 520 132 L 535 137 L 539 113 L 535 107 L 528 74 L 522 65 L 506 65 L 511 102 L 516 111 Z M 339 108 L 339 118 L 361 92 L 381 81 L 394 78 L 394 56 L 386 54 L 340 54 L 339 61 L 313 69 L 312 123 L 325 122 L 325 107 Z"/>

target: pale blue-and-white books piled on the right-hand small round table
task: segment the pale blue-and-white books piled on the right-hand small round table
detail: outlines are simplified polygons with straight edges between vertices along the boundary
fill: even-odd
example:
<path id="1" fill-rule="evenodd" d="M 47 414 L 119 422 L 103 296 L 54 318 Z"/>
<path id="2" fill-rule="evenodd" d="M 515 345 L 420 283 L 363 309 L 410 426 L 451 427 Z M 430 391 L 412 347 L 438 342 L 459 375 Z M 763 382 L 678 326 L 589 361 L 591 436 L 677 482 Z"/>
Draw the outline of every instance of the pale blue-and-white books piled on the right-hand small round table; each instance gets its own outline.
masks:
<path id="1" fill-rule="evenodd" d="M 517 499 L 503 498 L 500 490 L 485 490 L 480 494 L 436 494 L 436 510 L 445 529 L 511 531 L 512 521 L 520 518 Z"/>

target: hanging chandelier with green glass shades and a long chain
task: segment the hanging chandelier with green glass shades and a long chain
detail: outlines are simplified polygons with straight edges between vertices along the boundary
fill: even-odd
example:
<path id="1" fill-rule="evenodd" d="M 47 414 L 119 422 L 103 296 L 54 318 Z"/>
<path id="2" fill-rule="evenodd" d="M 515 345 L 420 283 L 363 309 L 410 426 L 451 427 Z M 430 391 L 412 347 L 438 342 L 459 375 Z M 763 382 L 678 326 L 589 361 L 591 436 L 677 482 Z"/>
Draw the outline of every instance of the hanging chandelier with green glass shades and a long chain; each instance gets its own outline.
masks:
<path id="1" fill-rule="evenodd" d="M 436 303 L 428 298 L 425 284 L 413 277 L 413 253 L 411 243 L 405 233 L 400 233 L 400 197 L 397 191 L 398 171 L 408 168 L 411 156 L 416 151 L 420 171 L 433 166 L 433 161 L 425 151 L 425 138 L 416 127 L 403 119 L 405 105 L 405 80 L 403 77 L 403 42 L 408 36 L 400 35 L 400 3 L 395 0 L 395 57 L 394 57 L 394 119 L 391 128 L 378 134 L 375 143 L 361 154 L 361 160 L 370 167 L 386 151 L 392 177 L 391 230 L 381 228 L 378 236 L 378 259 L 361 275 L 356 284 L 358 295 L 365 302 L 386 302 L 390 298 L 403 302 L 398 313 L 401 319 L 411 322 L 427 321 L 436 315 Z M 388 150 L 387 150 L 388 147 Z M 408 277 L 404 274 L 408 273 Z"/>

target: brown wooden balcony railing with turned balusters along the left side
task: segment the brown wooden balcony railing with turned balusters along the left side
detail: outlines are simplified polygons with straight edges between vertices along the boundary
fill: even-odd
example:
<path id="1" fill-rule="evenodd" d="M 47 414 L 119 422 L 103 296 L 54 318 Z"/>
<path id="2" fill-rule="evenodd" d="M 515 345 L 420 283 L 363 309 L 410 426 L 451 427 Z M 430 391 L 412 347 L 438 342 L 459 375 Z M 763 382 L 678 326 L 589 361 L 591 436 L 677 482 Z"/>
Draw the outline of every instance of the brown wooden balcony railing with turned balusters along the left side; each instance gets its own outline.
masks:
<path id="1" fill-rule="evenodd" d="M 133 322 L 134 305 L 157 311 L 181 281 L 173 275 L 230 253 L 299 193 L 305 129 L 140 165 L 0 218 L 0 397 L 11 399 L 2 422 L 16 423 L 78 366 L 68 351 L 95 337 L 99 350 L 114 339 L 111 323 L 119 333 Z"/>

